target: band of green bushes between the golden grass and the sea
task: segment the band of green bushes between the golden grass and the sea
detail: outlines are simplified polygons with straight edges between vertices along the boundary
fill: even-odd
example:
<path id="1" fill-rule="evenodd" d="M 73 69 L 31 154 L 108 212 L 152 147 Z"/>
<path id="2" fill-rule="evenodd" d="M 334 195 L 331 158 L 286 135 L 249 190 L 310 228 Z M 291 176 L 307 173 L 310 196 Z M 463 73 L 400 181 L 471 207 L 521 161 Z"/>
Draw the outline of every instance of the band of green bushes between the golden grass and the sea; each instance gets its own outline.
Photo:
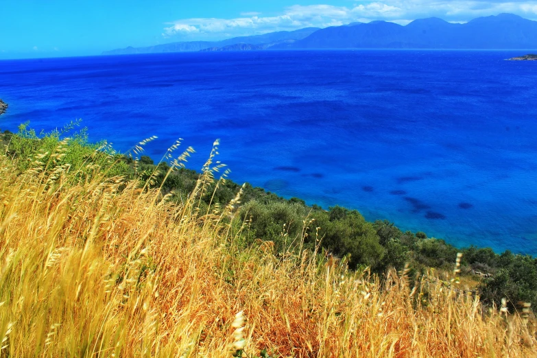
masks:
<path id="1" fill-rule="evenodd" d="M 180 203 L 196 190 L 200 174 L 184 168 L 182 163 L 171 167 L 170 156 L 167 157 L 170 163 L 163 161 L 158 165 L 149 156 L 134 160 L 132 154 L 139 152 L 136 147 L 132 154 L 116 154 L 106 143 L 88 143 L 85 130 L 77 132 L 69 145 L 64 145 L 61 158 L 53 157 L 50 154 L 53 148 L 75 124 L 40 136 L 23 125 L 17 134 L 0 134 L 0 143 L 9 143 L 10 156 L 32 158 L 41 153 L 43 163 L 47 160 L 69 163 L 71 172 L 75 172 L 73 178 L 79 181 L 94 176 L 93 168 L 109 163 L 108 176 L 139 179 L 147 189 L 160 189 L 172 202 Z M 186 155 L 182 154 L 181 162 L 191 152 L 189 149 Z M 31 164 L 24 160 L 17 163 L 21 171 Z M 225 176 L 226 172 L 222 180 L 207 183 L 197 210 L 200 214 L 211 213 L 235 200 L 241 190 L 238 212 L 241 220 L 233 225 L 235 230 L 242 230 L 244 247 L 259 240 L 274 242 L 276 252 L 282 254 L 319 247 L 325 255 L 344 260 L 351 270 L 369 267 L 380 275 L 392 267 L 401 271 L 405 265 L 412 274 L 425 274 L 429 268 L 450 272 L 457 252 L 462 252 L 462 276 L 479 282 L 477 287 L 467 289 L 477 289 L 483 302 L 499 306 L 502 298 L 508 298 L 512 310 L 518 309 L 520 302 L 531 302 L 532 307 L 537 307 L 537 259 L 532 256 L 509 251 L 497 254 L 490 248 L 455 248 L 442 239 L 428 238 L 424 232 L 403 232 L 388 221 L 367 222 L 355 210 L 341 206 L 323 210 L 317 205 L 308 206 L 298 198 L 286 200 L 250 184 L 241 187 Z"/>

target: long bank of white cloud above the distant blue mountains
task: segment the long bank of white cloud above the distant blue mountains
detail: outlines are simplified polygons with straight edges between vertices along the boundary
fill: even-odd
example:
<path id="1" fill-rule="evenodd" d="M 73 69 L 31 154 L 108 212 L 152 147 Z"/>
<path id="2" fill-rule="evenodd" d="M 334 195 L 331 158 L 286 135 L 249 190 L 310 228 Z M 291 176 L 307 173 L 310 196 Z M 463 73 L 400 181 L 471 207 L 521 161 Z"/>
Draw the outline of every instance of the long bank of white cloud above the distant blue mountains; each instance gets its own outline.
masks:
<path id="1" fill-rule="evenodd" d="M 453 23 L 464 23 L 478 16 L 512 12 L 537 18 L 537 0 L 503 2 L 481 0 L 384 0 L 360 1 L 352 7 L 333 5 L 293 5 L 276 16 L 243 12 L 236 19 L 181 19 L 168 23 L 163 36 L 222 38 L 265 34 L 303 27 L 329 27 L 352 22 L 385 20 L 406 25 L 411 20 L 437 16 Z"/>

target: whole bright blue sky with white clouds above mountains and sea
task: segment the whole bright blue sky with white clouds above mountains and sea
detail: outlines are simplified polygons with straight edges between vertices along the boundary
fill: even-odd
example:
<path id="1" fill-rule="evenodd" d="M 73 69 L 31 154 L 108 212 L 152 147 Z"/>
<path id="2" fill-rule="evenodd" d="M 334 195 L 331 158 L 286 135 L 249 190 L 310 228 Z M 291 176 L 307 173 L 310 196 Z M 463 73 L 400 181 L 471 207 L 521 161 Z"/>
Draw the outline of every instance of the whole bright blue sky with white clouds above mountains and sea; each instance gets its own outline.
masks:
<path id="1" fill-rule="evenodd" d="M 464 23 L 502 12 L 537 20 L 537 0 L 0 0 L 0 59 L 92 56 L 355 21 Z"/>

